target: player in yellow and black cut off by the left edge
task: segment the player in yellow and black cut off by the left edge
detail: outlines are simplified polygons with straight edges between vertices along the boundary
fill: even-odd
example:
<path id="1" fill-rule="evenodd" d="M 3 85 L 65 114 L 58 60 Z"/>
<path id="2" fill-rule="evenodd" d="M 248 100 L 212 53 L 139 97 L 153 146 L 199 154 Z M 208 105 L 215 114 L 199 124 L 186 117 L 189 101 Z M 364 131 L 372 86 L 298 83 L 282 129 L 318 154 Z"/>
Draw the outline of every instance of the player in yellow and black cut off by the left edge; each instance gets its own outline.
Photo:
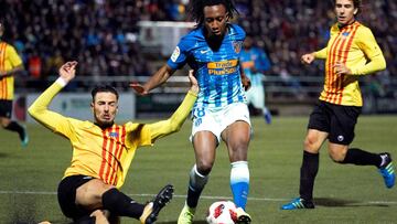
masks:
<path id="1" fill-rule="evenodd" d="M 2 41 L 3 33 L 4 24 L 0 22 L 0 124 L 4 129 L 18 132 L 22 147 L 26 147 L 29 142 L 26 129 L 11 120 L 14 75 L 24 68 L 15 49 Z"/>

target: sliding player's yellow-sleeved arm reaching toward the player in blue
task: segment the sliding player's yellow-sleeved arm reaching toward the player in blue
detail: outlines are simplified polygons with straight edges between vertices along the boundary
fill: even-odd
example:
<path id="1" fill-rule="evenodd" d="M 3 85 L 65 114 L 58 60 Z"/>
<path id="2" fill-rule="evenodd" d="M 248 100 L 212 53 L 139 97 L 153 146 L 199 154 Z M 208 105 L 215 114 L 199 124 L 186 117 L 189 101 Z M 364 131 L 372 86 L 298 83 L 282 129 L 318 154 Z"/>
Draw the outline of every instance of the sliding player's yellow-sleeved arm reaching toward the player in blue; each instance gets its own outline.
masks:
<path id="1" fill-rule="evenodd" d="M 192 110 L 193 105 L 197 98 L 200 88 L 197 79 L 193 75 L 193 71 L 189 72 L 189 79 L 191 82 L 191 88 L 174 114 L 167 120 L 161 120 L 149 125 L 151 130 L 151 138 L 153 141 L 158 138 L 179 131 L 183 122 L 186 120 L 186 117 L 190 115 L 190 111 Z"/>

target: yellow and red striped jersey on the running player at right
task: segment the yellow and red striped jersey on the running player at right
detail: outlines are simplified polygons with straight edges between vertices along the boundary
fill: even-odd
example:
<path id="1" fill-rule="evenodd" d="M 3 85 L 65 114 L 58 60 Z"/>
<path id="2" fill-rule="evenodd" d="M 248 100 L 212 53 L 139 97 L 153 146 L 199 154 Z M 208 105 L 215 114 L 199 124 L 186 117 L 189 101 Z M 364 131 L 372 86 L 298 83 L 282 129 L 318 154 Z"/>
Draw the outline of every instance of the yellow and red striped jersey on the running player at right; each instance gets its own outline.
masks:
<path id="1" fill-rule="evenodd" d="M 386 67 L 386 62 L 372 31 L 360 22 L 331 28 L 326 47 L 315 52 L 316 58 L 325 58 L 325 82 L 320 100 L 345 106 L 363 106 L 360 75 Z M 352 75 L 337 75 L 334 65 L 342 62 Z"/>

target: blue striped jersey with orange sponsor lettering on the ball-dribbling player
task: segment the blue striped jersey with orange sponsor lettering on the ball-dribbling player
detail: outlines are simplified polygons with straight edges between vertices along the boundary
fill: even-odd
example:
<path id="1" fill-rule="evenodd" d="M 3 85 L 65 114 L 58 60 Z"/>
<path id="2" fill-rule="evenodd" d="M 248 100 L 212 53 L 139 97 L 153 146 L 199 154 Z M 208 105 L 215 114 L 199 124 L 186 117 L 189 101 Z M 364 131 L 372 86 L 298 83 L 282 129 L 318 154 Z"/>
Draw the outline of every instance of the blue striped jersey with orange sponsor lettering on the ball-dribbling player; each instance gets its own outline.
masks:
<path id="1" fill-rule="evenodd" d="M 187 63 L 195 71 L 200 86 L 195 108 L 222 109 L 233 103 L 246 103 L 239 71 L 245 31 L 236 24 L 228 24 L 218 50 L 210 47 L 204 32 L 205 28 L 200 26 L 184 35 L 168 65 L 178 70 Z"/>

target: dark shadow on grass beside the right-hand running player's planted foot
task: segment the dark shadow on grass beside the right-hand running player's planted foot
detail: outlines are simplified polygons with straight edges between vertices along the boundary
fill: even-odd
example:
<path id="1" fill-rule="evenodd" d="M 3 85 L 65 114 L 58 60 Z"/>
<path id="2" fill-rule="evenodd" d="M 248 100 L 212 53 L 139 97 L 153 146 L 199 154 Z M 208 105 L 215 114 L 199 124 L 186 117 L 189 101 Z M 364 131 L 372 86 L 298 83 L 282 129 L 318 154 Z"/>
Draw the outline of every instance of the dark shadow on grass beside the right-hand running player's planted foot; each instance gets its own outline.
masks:
<path id="1" fill-rule="evenodd" d="M 383 203 L 368 203 L 363 201 L 355 200 L 343 200 L 343 199 L 326 199 L 326 198 L 318 198 L 314 200 L 314 204 L 319 206 L 328 206 L 328 207 L 341 207 L 341 206 L 380 206 L 388 207 L 388 204 Z"/>

